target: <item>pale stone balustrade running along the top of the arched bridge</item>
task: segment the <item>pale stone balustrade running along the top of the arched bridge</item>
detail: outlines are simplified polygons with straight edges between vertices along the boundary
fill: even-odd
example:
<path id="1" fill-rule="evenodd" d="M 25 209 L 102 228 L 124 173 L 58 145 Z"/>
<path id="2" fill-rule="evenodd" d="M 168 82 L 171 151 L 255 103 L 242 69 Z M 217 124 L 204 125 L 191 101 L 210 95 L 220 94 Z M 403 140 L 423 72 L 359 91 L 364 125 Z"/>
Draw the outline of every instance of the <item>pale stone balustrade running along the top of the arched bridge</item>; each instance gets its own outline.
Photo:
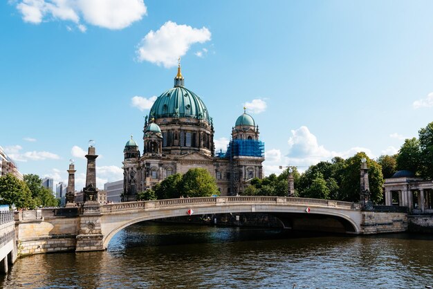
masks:
<path id="1" fill-rule="evenodd" d="M 161 207 L 176 207 L 181 205 L 223 205 L 234 203 L 260 204 L 300 204 L 337 207 L 341 209 L 358 209 L 358 204 L 342 201 L 322 200 L 318 198 L 295 198 L 279 196 L 220 196 L 203 198 L 172 198 L 158 201 L 138 201 L 101 205 L 101 213 L 119 212 L 136 209 L 156 209 Z"/>

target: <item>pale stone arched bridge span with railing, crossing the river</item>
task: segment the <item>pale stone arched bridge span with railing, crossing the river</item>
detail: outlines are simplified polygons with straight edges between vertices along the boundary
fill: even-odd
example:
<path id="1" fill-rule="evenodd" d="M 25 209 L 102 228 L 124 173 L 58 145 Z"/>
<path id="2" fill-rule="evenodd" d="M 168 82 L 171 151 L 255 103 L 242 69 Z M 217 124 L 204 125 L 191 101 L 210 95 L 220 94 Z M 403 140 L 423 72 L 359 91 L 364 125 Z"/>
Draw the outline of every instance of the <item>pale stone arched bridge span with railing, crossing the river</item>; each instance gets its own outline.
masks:
<path id="1" fill-rule="evenodd" d="M 309 213 L 306 207 L 310 208 Z M 277 216 L 298 216 L 302 218 L 335 218 L 346 232 L 359 234 L 361 213 L 352 203 L 293 197 L 232 196 L 206 198 L 179 198 L 159 201 L 129 202 L 101 206 L 101 227 L 104 248 L 120 230 L 140 223 L 160 218 L 187 216 L 193 209 L 194 215 L 227 213 L 266 213 Z M 284 223 L 284 220 L 282 220 Z"/>

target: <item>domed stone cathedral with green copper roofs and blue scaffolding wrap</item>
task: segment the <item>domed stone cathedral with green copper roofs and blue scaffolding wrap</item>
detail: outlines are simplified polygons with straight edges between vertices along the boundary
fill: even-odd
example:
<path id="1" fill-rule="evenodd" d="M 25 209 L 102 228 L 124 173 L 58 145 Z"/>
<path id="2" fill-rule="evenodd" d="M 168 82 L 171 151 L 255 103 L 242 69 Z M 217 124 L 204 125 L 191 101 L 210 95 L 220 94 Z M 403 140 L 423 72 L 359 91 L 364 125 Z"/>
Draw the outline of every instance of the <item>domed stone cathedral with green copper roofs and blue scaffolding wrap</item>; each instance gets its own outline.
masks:
<path id="1" fill-rule="evenodd" d="M 123 150 L 123 201 L 136 201 L 167 176 L 203 167 L 216 180 L 221 196 L 240 194 L 252 178 L 264 172 L 264 142 L 259 126 L 246 113 L 232 127 L 227 151 L 214 151 L 214 126 L 201 98 L 185 88 L 181 65 L 174 87 L 162 93 L 145 118 L 142 153 L 131 139 Z"/>

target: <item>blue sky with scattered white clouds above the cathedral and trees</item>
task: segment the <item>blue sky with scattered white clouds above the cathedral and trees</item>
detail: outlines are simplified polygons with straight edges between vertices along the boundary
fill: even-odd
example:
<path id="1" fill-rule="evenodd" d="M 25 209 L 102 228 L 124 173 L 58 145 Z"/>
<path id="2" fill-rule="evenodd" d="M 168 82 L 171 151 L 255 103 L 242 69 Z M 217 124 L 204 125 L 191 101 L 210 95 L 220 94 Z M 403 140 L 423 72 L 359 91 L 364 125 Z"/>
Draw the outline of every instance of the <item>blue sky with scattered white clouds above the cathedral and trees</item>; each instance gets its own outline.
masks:
<path id="1" fill-rule="evenodd" d="M 247 107 L 266 175 L 394 154 L 432 122 L 432 1 L 8 0 L 0 3 L 0 146 L 23 174 L 122 179 L 123 148 L 173 86 L 200 95 L 225 150 Z"/>

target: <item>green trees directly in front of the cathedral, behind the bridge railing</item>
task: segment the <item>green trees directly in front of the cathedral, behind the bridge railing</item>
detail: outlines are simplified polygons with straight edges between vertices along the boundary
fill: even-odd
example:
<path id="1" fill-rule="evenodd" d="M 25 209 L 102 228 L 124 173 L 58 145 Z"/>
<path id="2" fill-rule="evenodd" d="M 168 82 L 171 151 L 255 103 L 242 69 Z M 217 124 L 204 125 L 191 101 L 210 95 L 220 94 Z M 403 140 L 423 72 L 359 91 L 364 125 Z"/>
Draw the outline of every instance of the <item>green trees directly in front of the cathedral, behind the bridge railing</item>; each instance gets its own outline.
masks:
<path id="1" fill-rule="evenodd" d="M 138 201 L 161 200 L 164 198 L 199 197 L 219 195 L 215 179 L 207 169 L 190 169 L 185 174 L 172 174 L 152 189 L 137 194 Z"/>

